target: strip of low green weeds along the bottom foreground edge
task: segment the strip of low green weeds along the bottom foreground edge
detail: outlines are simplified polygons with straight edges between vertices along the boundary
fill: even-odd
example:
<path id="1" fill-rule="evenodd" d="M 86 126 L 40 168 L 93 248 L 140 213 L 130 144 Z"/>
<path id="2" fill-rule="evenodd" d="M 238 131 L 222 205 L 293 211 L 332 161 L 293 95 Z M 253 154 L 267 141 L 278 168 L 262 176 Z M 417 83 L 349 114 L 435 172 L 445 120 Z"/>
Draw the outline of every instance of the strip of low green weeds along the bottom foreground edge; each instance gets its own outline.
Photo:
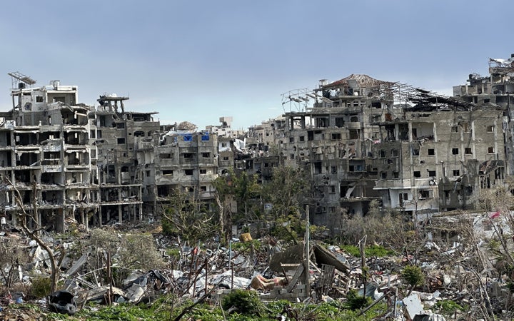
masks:
<path id="1" fill-rule="evenodd" d="M 162 297 L 150 305 L 86 305 L 74 316 L 50 313 L 36 305 L 24 303 L 23 305 L 10 305 L 4 312 L 22 312 L 30 316 L 39 317 L 44 315 L 44 320 L 173 320 L 185 307 L 191 306 L 191 300 L 179 304 L 176 298 L 170 295 Z M 288 302 L 285 300 L 269 302 L 265 304 L 258 299 L 256 292 L 236 290 L 223 298 L 222 305 L 203 303 L 193 307 L 191 311 L 183 315 L 181 320 L 202 320 L 202 321 L 270 321 L 277 320 L 278 315 L 283 315 L 286 320 L 330 320 L 330 321 L 366 321 L 385 312 L 385 304 L 379 303 L 363 315 L 360 314 L 359 302 L 364 303 L 362 297 L 355 293 L 355 300 L 351 303 L 338 301 L 323 302 L 320 304 L 303 304 Z M 371 299 L 366 299 L 366 306 Z M 231 307 L 236 310 L 229 311 Z M 351 309 L 356 310 L 351 310 Z"/>

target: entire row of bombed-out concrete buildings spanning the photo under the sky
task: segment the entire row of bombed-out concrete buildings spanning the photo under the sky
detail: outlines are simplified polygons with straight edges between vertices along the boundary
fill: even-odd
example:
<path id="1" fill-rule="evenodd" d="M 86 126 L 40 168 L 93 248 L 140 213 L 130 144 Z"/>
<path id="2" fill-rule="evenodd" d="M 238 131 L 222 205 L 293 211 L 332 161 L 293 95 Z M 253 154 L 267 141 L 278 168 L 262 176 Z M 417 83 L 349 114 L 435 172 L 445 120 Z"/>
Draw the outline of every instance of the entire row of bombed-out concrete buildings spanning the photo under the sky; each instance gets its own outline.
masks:
<path id="1" fill-rule="evenodd" d="M 78 103 L 76 86 L 34 86 L 12 78 L 12 110 L 0 113 L 0 203 L 8 223 L 14 189 L 39 223 L 64 230 L 147 220 L 175 188 L 213 203 L 212 181 L 231 168 L 271 179 L 274 167 L 311 173 L 311 223 L 341 228 L 342 210 L 363 215 L 372 200 L 410 215 L 469 209 L 473 195 L 514 173 L 514 58 L 490 59 L 490 75 L 470 74 L 453 97 L 353 74 L 283 95 L 283 116 L 233 131 L 154 112 L 125 111 L 129 98 L 104 94 Z M 295 110 L 296 109 L 296 110 Z M 9 180 L 6 180 L 9 178 Z M 232 207 L 235 210 L 236 205 Z"/>

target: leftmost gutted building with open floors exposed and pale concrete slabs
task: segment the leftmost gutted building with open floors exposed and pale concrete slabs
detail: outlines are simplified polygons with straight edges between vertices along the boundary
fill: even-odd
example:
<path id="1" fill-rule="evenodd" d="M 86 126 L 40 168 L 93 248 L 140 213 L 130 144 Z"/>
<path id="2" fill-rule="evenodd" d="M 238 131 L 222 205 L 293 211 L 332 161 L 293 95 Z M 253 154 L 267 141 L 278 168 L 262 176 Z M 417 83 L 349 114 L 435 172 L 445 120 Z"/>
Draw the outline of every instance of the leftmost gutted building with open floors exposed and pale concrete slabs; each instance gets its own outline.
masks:
<path id="1" fill-rule="evenodd" d="M 99 210 L 91 107 L 77 103 L 76 86 L 35 87 L 28 76 L 9 75 L 12 109 L 0 116 L 2 215 L 16 223 L 23 207 L 37 225 L 58 231 L 66 216 L 85 222 Z"/>

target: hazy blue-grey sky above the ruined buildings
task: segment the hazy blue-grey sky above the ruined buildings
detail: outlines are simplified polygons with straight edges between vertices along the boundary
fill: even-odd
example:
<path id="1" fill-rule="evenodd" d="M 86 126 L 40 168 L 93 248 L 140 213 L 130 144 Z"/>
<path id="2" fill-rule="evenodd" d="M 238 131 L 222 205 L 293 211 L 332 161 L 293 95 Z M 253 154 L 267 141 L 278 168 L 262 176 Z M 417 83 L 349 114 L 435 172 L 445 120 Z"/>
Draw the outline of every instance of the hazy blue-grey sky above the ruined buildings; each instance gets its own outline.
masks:
<path id="1" fill-rule="evenodd" d="M 282 94 L 365 73 L 450 95 L 510 58 L 514 1 L 5 1 L 0 111 L 11 77 L 79 87 L 79 102 L 246 129 L 291 111 Z M 2 76 L 3 75 L 3 76 Z"/>

